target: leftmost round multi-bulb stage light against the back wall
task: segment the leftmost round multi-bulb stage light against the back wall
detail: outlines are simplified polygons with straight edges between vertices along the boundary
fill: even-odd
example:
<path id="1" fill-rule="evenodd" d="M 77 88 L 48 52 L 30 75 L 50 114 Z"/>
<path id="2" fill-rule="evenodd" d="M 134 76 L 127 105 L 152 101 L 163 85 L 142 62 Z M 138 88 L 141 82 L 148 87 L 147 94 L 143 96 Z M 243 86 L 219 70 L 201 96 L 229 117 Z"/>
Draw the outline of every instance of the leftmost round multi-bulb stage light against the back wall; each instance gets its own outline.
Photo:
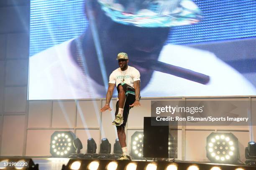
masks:
<path id="1" fill-rule="evenodd" d="M 75 152 L 74 145 L 70 142 L 74 140 L 73 132 L 54 132 L 51 135 L 50 153 L 53 157 L 68 157 Z"/>

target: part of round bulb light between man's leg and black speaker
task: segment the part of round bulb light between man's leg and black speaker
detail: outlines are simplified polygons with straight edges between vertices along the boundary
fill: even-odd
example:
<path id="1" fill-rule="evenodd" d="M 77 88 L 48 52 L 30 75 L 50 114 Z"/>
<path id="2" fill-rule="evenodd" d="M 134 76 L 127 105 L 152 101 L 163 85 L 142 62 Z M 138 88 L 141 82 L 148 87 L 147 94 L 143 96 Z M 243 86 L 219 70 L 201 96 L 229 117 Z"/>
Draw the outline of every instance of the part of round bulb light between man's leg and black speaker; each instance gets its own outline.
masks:
<path id="1" fill-rule="evenodd" d="M 131 156 L 135 160 L 143 160 L 143 132 L 134 132 L 131 136 Z"/>

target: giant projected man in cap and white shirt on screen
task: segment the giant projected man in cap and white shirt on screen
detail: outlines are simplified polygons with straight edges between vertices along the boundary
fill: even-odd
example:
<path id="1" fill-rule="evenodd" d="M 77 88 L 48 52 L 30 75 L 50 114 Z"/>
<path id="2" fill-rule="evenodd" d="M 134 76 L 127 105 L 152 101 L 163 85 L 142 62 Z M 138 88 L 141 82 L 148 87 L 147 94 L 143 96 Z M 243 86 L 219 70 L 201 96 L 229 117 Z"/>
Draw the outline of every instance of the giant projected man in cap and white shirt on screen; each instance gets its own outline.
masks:
<path id="1" fill-rule="evenodd" d="M 85 13 L 89 25 L 84 34 L 31 56 L 29 99 L 104 97 L 115 69 L 113 56 L 120 51 L 140 72 L 143 96 L 256 94 L 248 80 L 213 53 L 165 44 L 173 26 L 200 21 L 201 11 L 191 0 L 87 0 Z M 205 74 L 210 81 L 166 74 L 159 62 Z"/>

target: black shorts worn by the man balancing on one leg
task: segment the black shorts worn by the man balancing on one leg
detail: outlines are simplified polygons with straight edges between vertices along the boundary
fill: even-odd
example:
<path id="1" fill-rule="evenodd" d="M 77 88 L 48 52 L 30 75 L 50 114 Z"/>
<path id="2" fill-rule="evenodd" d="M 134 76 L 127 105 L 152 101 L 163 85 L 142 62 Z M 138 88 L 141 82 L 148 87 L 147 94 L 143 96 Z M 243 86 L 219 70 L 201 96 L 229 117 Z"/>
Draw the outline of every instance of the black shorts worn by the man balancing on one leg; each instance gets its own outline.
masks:
<path id="1" fill-rule="evenodd" d="M 129 115 L 129 110 L 132 108 L 132 107 L 129 107 L 129 105 L 133 104 L 135 101 L 135 90 L 133 89 L 133 87 L 125 83 L 120 83 L 118 84 L 118 86 L 123 86 L 123 90 L 125 91 L 125 105 L 123 107 L 123 124 L 120 125 L 125 127 L 128 119 L 128 115 Z M 118 86 L 117 86 L 117 90 L 118 90 Z M 119 90 L 118 90 L 118 94 L 119 94 Z M 115 105 L 115 115 L 118 114 L 118 110 L 119 110 L 119 101 L 117 101 Z"/>

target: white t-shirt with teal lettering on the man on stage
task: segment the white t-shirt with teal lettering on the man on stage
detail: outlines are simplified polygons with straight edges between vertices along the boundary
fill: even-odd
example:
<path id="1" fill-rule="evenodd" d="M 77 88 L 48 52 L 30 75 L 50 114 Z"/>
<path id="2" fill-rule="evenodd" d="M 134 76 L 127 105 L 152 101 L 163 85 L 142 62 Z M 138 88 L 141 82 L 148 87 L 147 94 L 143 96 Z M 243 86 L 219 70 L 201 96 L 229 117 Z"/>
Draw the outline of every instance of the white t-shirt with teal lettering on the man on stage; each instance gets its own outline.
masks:
<path id="1" fill-rule="evenodd" d="M 125 83 L 134 88 L 133 82 L 141 80 L 140 76 L 140 72 L 134 67 L 128 66 L 128 68 L 125 71 L 122 71 L 120 68 L 118 68 L 110 74 L 109 83 L 113 83 L 116 86 L 118 86 L 118 84 L 120 83 Z"/>

